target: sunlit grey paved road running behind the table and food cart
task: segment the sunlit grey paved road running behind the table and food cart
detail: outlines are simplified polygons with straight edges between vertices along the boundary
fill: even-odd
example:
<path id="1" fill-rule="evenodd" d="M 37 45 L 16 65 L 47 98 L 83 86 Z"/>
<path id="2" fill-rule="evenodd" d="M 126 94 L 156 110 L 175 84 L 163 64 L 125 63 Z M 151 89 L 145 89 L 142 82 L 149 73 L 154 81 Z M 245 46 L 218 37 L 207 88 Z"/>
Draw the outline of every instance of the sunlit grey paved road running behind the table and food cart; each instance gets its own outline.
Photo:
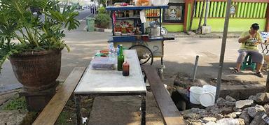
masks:
<path id="1" fill-rule="evenodd" d="M 88 66 L 91 57 L 97 50 L 108 47 L 107 40 L 110 33 L 87 32 L 83 30 L 85 21 L 75 31 L 65 31 L 64 38 L 71 52 L 62 51 L 62 69 L 58 80 L 65 80 L 72 69 L 76 66 Z M 172 76 L 178 72 L 191 75 L 195 56 L 200 55 L 198 62 L 198 78 L 216 78 L 219 67 L 219 54 L 221 50 L 220 38 L 177 38 L 175 41 L 166 41 L 164 46 L 165 76 Z M 254 82 L 265 82 L 265 78 L 258 78 L 253 72 L 231 74 L 229 68 L 235 66 L 237 50 L 240 47 L 237 39 L 228 39 L 223 67 L 223 79 L 246 80 Z M 154 65 L 160 65 L 160 59 L 154 59 Z M 4 69 L 0 75 L 0 91 L 12 88 L 18 84 L 13 75 L 9 61 L 4 63 Z M 266 75 L 265 75 L 266 76 Z"/>

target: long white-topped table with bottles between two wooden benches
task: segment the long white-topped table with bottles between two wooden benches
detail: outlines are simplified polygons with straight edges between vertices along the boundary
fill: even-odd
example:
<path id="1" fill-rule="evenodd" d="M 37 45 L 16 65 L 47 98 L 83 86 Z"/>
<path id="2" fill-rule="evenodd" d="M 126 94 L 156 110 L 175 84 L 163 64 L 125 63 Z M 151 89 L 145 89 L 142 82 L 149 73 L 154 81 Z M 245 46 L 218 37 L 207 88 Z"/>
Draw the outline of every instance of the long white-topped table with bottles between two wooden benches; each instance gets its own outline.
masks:
<path id="1" fill-rule="evenodd" d="M 81 124 L 81 96 L 142 96 L 142 122 L 146 124 L 146 85 L 136 50 L 125 50 L 125 60 L 130 64 L 130 75 L 122 71 L 94 70 L 90 66 L 74 91 L 78 124 Z"/>

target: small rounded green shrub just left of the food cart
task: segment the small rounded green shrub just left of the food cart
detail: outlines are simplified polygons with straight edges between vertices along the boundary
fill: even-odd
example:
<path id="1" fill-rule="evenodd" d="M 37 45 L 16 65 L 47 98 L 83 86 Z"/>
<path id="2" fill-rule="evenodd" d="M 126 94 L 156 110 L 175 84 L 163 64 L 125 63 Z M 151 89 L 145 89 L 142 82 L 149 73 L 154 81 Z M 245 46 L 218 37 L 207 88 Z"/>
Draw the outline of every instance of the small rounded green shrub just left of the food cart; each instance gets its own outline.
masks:
<path id="1" fill-rule="evenodd" d="M 104 14 L 104 13 L 99 13 L 96 17 L 95 17 L 95 23 L 97 24 L 97 26 L 102 27 L 102 28 L 107 28 L 109 27 L 109 22 L 110 22 L 110 17 L 108 14 Z"/>

